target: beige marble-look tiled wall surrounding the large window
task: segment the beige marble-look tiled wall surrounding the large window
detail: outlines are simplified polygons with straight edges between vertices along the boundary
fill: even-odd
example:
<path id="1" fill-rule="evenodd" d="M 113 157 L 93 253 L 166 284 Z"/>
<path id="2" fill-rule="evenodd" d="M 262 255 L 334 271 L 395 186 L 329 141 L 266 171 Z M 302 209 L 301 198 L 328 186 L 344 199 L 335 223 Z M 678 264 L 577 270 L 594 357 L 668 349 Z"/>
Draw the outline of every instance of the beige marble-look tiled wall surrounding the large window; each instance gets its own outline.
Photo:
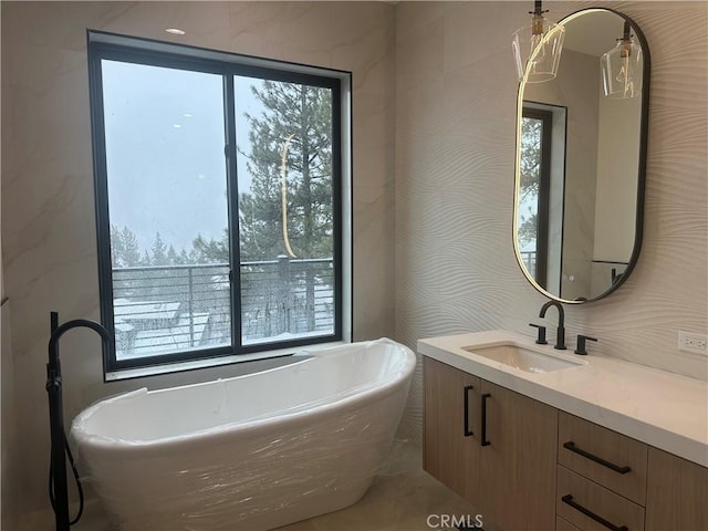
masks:
<path id="1" fill-rule="evenodd" d="M 166 28 L 187 31 L 170 37 Z M 49 312 L 98 317 L 86 29 L 353 72 L 354 337 L 394 330 L 395 7 L 383 2 L 2 2 L 2 246 L 23 464 L 22 511 L 46 509 Z M 62 339 L 65 416 L 142 386 L 104 384 L 95 337 Z"/>

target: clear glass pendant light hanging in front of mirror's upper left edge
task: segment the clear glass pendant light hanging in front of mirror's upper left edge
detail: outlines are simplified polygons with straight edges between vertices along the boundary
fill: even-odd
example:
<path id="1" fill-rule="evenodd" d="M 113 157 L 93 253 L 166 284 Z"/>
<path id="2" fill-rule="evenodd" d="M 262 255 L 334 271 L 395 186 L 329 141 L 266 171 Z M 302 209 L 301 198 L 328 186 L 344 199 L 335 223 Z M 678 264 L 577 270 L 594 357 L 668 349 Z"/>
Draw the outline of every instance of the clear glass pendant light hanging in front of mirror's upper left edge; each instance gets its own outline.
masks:
<path id="1" fill-rule="evenodd" d="M 561 61 L 565 28 L 549 21 L 543 13 L 542 2 L 534 2 L 531 24 L 517 30 L 511 40 L 519 81 L 525 76 L 527 83 L 550 81 L 558 73 Z M 528 72 L 527 72 L 528 70 Z"/>

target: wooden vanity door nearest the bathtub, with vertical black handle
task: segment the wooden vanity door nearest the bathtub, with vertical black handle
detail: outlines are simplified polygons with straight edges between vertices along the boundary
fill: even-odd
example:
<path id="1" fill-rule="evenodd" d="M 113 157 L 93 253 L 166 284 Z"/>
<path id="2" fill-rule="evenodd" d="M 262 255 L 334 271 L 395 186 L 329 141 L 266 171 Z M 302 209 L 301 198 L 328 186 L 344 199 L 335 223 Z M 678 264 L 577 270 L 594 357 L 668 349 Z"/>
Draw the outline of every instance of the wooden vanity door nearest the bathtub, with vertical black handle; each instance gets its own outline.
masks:
<path id="1" fill-rule="evenodd" d="M 423 467 L 462 498 L 477 503 L 480 379 L 436 360 L 423 360 Z"/>

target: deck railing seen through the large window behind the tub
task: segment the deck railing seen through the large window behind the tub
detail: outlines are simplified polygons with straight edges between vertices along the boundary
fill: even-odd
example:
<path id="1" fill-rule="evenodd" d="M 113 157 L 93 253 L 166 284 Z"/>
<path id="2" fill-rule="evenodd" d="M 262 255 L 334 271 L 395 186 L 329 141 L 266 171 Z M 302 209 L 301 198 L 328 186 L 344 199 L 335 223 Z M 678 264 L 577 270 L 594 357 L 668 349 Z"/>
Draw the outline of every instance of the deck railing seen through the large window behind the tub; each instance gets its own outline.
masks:
<path id="1" fill-rule="evenodd" d="M 230 344 L 229 275 L 227 263 L 114 268 L 117 357 Z M 240 287 L 244 344 L 334 330 L 332 259 L 242 262 Z"/>

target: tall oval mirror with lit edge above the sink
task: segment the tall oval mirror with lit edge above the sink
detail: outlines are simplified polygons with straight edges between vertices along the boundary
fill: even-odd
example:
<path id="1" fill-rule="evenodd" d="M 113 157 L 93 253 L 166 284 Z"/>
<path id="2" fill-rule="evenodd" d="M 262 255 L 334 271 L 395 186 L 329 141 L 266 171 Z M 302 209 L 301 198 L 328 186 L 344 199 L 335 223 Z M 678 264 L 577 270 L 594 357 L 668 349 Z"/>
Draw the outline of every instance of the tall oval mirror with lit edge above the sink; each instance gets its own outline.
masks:
<path id="1" fill-rule="evenodd" d="M 519 83 L 513 246 L 539 291 L 582 303 L 615 291 L 639 257 L 649 50 L 611 9 L 559 25 L 556 77 Z"/>

